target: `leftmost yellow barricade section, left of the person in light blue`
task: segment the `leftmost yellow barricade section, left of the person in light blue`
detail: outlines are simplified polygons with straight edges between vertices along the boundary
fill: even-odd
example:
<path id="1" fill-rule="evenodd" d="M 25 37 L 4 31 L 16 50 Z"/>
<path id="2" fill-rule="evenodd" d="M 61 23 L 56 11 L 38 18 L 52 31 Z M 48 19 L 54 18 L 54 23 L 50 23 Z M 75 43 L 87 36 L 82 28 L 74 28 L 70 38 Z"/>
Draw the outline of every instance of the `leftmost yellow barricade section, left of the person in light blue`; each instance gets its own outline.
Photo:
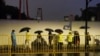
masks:
<path id="1" fill-rule="evenodd" d="M 0 35 L 0 54 L 10 55 L 11 53 L 11 43 L 8 35 Z"/>

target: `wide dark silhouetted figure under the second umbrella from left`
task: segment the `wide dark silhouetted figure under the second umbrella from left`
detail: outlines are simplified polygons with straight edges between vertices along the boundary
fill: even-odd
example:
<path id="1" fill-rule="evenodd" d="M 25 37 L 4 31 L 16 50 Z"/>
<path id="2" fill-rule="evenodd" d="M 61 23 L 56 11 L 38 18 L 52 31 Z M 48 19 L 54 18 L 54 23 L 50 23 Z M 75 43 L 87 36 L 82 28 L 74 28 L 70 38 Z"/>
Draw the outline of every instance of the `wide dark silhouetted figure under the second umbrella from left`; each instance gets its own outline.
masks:
<path id="1" fill-rule="evenodd" d="M 32 48 L 34 48 L 34 50 L 36 50 L 37 52 L 39 51 L 44 51 L 47 47 L 47 43 L 45 41 L 45 39 L 43 39 L 41 33 L 43 31 L 36 31 L 35 33 L 37 33 L 37 38 L 32 42 Z M 43 56 L 44 54 L 36 54 L 36 56 Z"/>

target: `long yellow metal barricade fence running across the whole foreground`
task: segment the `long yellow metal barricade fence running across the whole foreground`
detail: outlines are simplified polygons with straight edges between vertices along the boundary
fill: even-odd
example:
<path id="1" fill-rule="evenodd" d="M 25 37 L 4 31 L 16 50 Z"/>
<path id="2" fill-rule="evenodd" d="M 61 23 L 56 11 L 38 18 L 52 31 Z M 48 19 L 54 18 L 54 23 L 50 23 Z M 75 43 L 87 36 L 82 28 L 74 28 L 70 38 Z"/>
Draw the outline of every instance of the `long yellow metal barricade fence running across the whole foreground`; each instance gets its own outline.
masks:
<path id="1" fill-rule="evenodd" d="M 100 35 L 91 35 L 89 45 L 86 46 L 86 38 L 80 35 L 79 44 L 69 43 L 66 41 L 67 35 L 63 35 L 62 43 L 58 42 L 57 35 L 48 38 L 48 35 L 29 35 L 26 41 L 25 35 L 16 35 L 16 48 L 12 47 L 11 36 L 0 35 L 0 54 L 43 54 L 43 53 L 79 53 L 79 52 L 95 52 L 99 50 Z M 26 43 L 27 42 L 27 43 Z"/>

